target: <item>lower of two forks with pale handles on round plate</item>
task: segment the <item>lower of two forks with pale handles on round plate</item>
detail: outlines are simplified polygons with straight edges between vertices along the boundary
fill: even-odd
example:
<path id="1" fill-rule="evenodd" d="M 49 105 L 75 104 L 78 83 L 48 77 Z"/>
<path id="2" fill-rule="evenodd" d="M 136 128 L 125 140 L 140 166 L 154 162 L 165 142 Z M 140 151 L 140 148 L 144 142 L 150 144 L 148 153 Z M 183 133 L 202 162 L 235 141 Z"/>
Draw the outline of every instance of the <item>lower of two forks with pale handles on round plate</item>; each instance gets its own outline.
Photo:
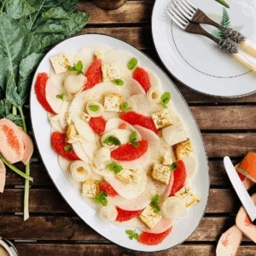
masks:
<path id="1" fill-rule="evenodd" d="M 201 27 L 200 24 L 193 23 L 188 20 L 175 5 L 171 5 L 171 7 L 166 10 L 166 14 L 169 15 L 172 21 L 183 29 L 183 31 L 210 38 L 212 41 L 218 44 L 218 47 L 224 50 L 225 53 L 232 55 L 232 57 L 241 62 L 242 65 L 253 70 L 253 72 L 256 72 L 255 63 L 250 61 L 246 55 L 241 54 L 241 51 L 236 47 L 235 44 L 232 44 L 226 39 L 214 37 L 211 33 L 207 32 L 203 27 Z"/>

